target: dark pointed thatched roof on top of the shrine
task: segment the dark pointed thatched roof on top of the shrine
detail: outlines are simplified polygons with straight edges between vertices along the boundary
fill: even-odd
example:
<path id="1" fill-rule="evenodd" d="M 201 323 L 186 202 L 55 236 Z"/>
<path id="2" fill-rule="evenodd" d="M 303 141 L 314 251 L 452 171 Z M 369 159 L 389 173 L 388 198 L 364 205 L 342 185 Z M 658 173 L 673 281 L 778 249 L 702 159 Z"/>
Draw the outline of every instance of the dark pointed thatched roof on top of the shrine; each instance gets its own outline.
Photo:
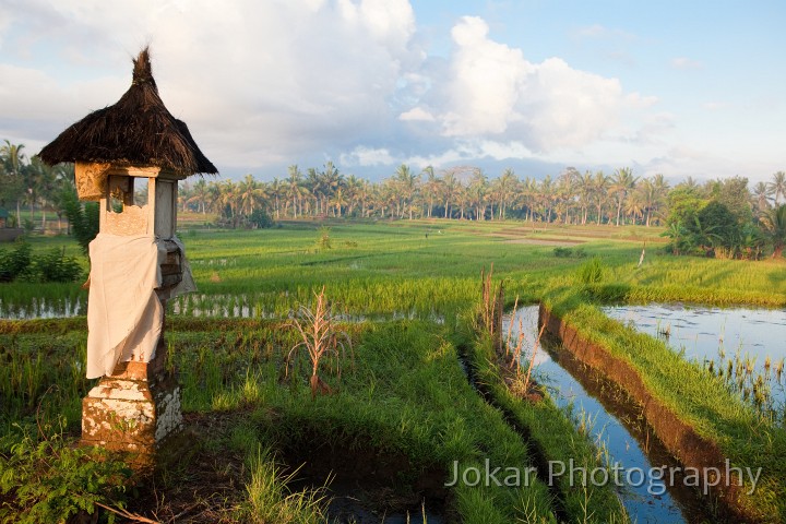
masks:
<path id="1" fill-rule="evenodd" d="M 147 48 L 133 64 L 133 82 L 118 103 L 91 112 L 60 133 L 41 150 L 40 158 L 49 165 L 83 162 L 160 167 L 184 176 L 217 174 L 186 123 L 164 106 Z"/>

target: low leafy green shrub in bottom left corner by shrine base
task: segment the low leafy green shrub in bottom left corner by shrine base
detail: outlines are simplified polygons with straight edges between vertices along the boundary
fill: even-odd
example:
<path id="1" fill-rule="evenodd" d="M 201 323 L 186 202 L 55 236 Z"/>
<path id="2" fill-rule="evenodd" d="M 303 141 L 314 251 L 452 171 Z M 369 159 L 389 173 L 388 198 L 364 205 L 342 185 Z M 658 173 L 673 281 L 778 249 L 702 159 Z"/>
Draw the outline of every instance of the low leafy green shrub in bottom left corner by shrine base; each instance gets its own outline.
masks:
<path id="1" fill-rule="evenodd" d="M 44 425 L 0 439 L 0 522 L 66 522 L 79 512 L 94 513 L 96 503 L 122 507 L 131 472 L 98 449 L 73 446 L 60 427 Z"/>

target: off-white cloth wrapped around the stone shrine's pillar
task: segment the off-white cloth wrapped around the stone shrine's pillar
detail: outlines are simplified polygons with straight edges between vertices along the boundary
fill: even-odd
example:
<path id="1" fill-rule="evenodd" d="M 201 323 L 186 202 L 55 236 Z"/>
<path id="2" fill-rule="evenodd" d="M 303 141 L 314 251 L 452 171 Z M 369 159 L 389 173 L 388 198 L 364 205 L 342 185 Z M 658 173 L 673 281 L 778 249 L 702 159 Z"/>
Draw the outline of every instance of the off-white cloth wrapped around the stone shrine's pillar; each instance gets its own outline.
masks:
<path id="1" fill-rule="evenodd" d="M 182 281 L 165 298 L 195 290 L 182 243 Z M 166 248 L 154 236 L 99 234 L 90 243 L 87 378 L 111 374 L 119 362 L 150 362 L 162 333 L 164 307 L 156 294 Z"/>

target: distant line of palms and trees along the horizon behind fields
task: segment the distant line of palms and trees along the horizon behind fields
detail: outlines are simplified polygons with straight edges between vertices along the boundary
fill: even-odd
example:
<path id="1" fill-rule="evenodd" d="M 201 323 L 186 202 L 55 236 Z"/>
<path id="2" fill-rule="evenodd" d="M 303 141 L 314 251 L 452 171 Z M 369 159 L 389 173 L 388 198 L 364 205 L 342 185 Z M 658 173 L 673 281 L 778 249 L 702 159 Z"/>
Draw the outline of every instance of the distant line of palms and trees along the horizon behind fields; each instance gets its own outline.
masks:
<path id="1" fill-rule="evenodd" d="M 191 179 L 193 180 L 193 179 Z M 49 168 L 24 145 L 0 146 L 0 205 L 13 204 L 64 213 L 72 200 L 73 168 Z M 141 190 L 144 192 L 144 188 Z M 144 199 L 144 195 L 140 195 Z M 179 206 L 207 215 L 219 225 L 264 227 L 298 218 L 521 219 L 537 223 L 666 226 L 675 253 L 761 258 L 779 255 L 786 202 L 786 174 L 748 188 L 741 177 L 699 183 L 688 177 L 671 187 L 663 175 L 634 176 L 629 167 L 614 172 L 569 167 L 541 180 L 504 169 L 489 177 L 473 166 L 420 171 L 398 166 L 390 177 L 369 181 L 345 175 L 332 163 L 305 171 L 291 165 L 272 181 L 246 175 L 241 180 L 200 178 L 179 190 Z M 712 205 L 711 205 L 712 204 Z"/>

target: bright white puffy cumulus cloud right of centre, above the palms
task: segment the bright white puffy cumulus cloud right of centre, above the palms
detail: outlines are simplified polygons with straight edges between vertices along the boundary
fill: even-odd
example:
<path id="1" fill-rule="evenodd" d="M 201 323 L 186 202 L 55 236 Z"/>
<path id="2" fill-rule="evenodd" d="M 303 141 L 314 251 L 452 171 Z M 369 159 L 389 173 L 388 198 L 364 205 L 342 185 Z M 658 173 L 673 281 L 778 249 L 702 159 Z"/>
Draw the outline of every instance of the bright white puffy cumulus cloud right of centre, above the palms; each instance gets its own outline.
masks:
<path id="1" fill-rule="evenodd" d="M 490 39 L 488 31 L 472 16 L 453 28 L 450 74 L 434 79 L 444 96 L 434 97 L 439 108 L 429 111 L 446 136 L 519 140 L 535 152 L 580 147 L 612 129 L 627 107 L 656 102 L 559 58 L 533 63 L 521 49 Z"/>

